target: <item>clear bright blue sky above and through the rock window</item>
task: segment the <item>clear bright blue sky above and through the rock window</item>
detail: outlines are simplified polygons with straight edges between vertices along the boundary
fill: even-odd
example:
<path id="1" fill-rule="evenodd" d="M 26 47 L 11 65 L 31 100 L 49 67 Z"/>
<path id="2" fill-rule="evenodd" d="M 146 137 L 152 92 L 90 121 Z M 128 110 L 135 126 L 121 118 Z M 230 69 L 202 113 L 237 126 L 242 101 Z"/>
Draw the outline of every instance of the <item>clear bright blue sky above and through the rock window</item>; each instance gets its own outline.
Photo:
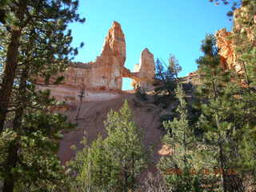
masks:
<path id="1" fill-rule="evenodd" d="M 83 24 L 71 24 L 74 46 L 85 42 L 75 61 L 93 61 L 113 21 L 121 24 L 126 36 L 126 64 L 133 70 L 144 48 L 154 58 L 168 61 L 174 54 L 182 66 L 180 76 L 197 69 L 205 34 L 214 34 L 231 22 L 226 17 L 228 6 L 215 6 L 207 0 L 80 0 L 78 12 L 86 18 Z M 124 79 L 123 90 L 130 90 Z"/>

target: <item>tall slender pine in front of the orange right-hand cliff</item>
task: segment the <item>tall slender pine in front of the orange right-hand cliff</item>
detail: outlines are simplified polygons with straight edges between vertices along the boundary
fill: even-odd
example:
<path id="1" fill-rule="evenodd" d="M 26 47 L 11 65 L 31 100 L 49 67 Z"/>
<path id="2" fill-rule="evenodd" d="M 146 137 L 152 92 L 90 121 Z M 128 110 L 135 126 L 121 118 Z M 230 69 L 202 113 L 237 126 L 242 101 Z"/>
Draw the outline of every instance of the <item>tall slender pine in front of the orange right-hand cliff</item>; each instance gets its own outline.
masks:
<path id="1" fill-rule="evenodd" d="M 219 96 L 222 94 L 222 78 L 226 77 L 224 71 L 219 67 L 220 58 L 218 57 L 218 48 L 216 39 L 213 35 L 206 35 L 202 41 L 202 52 L 205 54 L 198 59 L 198 70 L 202 77 L 201 86 L 202 95 L 206 95 L 207 104 L 202 105 L 202 117 L 199 120 L 200 126 L 205 125 L 205 130 L 212 130 L 206 133 L 213 137 L 214 144 L 218 148 L 218 163 L 222 170 L 226 170 L 226 157 L 224 152 L 224 142 L 226 130 L 221 128 L 221 116 L 218 113 L 220 105 Z M 224 138 L 223 138 L 224 137 Z M 213 142 L 213 141 L 211 141 Z M 222 174 L 223 191 L 227 191 L 226 175 Z"/>

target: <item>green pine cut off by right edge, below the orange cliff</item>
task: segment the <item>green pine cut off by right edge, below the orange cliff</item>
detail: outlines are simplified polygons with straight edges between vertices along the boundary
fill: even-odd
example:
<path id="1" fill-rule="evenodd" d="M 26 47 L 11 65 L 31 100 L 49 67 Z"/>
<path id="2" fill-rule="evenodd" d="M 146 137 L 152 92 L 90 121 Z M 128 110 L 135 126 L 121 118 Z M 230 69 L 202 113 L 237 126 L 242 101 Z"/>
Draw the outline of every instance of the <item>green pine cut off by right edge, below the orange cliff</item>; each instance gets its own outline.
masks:
<path id="1" fill-rule="evenodd" d="M 239 93 L 239 94 L 237 94 Z M 232 114 L 234 130 L 233 146 L 229 153 L 232 155 L 230 158 L 230 165 L 237 167 L 237 171 L 241 174 L 244 181 L 248 178 L 252 180 L 250 185 L 256 187 L 255 175 L 255 147 L 256 138 L 255 132 L 255 110 L 256 110 L 256 94 L 250 87 L 238 88 L 234 102 L 230 103 L 230 114 Z M 226 98 L 226 100 L 228 100 Z M 230 100 L 230 98 L 229 98 Z M 234 146 L 237 153 L 234 153 Z M 232 153 L 233 152 L 233 153 Z M 250 186 L 251 187 L 251 186 Z"/>

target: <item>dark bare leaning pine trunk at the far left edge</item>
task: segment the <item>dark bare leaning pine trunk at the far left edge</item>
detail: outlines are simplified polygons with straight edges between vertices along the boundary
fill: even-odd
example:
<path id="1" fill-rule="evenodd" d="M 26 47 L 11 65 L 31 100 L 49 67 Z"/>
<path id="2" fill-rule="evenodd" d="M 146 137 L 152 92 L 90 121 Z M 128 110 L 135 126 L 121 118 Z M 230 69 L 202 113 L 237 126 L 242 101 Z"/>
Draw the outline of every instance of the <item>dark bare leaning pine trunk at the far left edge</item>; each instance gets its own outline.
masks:
<path id="1" fill-rule="evenodd" d="M 15 71 L 17 68 L 18 46 L 21 37 L 21 30 L 12 30 L 10 45 L 7 49 L 6 66 L 2 78 L 2 88 L 0 89 L 0 134 L 4 128 L 8 104 L 13 90 Z"/>

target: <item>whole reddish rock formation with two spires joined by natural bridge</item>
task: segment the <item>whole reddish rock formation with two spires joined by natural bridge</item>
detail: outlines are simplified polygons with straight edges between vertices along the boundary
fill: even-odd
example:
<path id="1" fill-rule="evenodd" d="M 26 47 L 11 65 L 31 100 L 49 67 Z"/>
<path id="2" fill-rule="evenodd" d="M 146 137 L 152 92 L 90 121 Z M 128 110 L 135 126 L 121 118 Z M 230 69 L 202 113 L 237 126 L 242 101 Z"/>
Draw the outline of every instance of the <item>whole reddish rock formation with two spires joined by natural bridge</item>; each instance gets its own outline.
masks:
<path id="1" fill-rule="evenodd" d="M 61 85 L 44 86 L 43 79 L 38 89 L 50 89 L 59 101 L 79 102 L 82 90 L 83 101 L 102 101 L 117 98 L 122 90 L 122 78 L 134 78 L 142 86 L 148 86 L 154 78 L 154 56 L 149 50 L 142 51 L 141 62 L 134 73 L 124 67 L 126 62 L 125 35 L 118 22 L 113 22 L 103 44 L 102 53 L 94 62 L 72 63 L 57 76 L 64 76 Z M 56 78 L 56 77 L 55 77 Z"/>

